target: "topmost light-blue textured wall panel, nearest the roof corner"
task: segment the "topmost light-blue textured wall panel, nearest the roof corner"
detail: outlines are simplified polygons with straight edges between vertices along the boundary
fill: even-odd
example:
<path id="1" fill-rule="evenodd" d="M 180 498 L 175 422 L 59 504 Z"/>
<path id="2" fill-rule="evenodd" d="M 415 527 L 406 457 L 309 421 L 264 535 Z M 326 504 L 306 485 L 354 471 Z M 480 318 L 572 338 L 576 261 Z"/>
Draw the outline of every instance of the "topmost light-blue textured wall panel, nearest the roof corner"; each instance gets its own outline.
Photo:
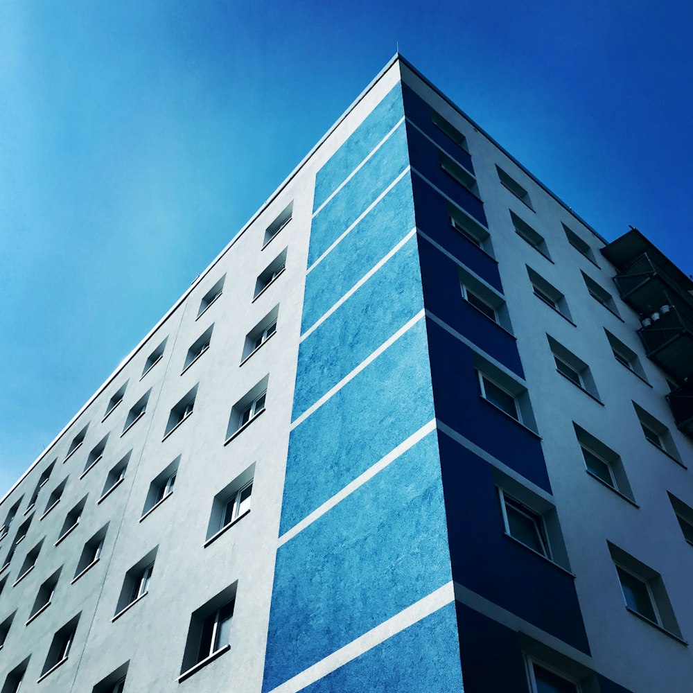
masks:
<path id="1" fill-rule="evenodd" d="M 403 115 L 402 86 L 397 84 L 317 172 L 314 210 L 378 146 L 378 143 L 394 128 Z"/>

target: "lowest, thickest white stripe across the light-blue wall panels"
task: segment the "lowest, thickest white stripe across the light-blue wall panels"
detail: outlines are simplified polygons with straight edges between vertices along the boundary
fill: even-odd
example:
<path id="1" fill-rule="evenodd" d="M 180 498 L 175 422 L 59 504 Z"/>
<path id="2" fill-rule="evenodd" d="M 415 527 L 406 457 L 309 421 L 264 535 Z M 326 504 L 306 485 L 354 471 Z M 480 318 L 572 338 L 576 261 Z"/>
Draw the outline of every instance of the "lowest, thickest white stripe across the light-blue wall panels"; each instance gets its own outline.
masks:
<path id="1" fill-rule="evenodd" d="M 401 633 L 405 628 L 435 613 L 446 604 L 450 604 L 454 599 L 453 583 L 450 581 L 435 592 L 430 593 L 428 597 L 423 597 L 418 602 L 414 602 L 412 606 L 407 606 L 392 618 L 361 635 L 360 638 L 352 640 L 336 652 L 316 662 L 312 667 L 308 667 L 300 674 L 277 686 L 272 693 L 295 693 L 311 683 L 319 681 L 320 678 L 343 667 L 369 649 L 373 649 L 381 642 L 392 638 L 393 635 Z"/>

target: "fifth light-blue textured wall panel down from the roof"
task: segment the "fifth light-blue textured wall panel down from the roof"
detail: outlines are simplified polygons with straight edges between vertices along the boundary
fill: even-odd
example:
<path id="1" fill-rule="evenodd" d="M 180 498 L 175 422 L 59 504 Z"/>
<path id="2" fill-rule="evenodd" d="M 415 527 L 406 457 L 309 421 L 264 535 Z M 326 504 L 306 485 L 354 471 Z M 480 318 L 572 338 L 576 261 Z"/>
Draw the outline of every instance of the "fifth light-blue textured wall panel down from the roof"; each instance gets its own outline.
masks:
<path id="1" fill-rule="evenodd" d="M 423 319 L 292 430 L 284 534 L 433 418 Z"/>

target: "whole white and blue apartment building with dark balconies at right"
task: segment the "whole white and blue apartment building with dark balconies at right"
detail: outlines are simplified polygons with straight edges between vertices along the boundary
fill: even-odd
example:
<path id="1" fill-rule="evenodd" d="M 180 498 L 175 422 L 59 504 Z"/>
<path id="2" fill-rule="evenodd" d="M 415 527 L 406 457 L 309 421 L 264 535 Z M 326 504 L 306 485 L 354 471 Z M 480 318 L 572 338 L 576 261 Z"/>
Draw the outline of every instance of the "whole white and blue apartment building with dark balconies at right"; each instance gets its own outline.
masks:
<path id="1" fill-rule="evenodd" d="M 692 290 L 395 56 L 0 502 L 1 693 L 690 690 Z"/>

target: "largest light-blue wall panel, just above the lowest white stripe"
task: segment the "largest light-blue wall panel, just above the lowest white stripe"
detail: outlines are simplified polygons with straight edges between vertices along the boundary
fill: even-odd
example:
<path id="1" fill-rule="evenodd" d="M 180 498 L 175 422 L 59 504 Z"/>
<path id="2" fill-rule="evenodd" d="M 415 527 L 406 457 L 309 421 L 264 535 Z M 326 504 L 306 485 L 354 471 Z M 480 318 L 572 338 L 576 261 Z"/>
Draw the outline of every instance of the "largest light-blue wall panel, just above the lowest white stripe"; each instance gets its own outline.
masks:
<path id="1" fill-rule="evenodd" d="M 448 583 L 445 528 L 433 432 L 279 547 L 263 690 Z"/>

